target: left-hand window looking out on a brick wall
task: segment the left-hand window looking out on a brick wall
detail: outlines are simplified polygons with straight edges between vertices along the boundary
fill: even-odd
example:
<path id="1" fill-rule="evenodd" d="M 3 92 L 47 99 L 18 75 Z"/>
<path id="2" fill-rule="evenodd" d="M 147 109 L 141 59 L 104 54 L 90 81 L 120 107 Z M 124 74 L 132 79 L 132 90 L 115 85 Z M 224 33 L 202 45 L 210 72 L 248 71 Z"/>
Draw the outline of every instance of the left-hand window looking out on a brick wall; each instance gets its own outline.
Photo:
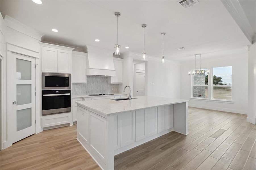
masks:
<path id="1" fill-rule="evenodd" d="M 192 97 L 208 98 L 208 75 L 193 75 Z"/>

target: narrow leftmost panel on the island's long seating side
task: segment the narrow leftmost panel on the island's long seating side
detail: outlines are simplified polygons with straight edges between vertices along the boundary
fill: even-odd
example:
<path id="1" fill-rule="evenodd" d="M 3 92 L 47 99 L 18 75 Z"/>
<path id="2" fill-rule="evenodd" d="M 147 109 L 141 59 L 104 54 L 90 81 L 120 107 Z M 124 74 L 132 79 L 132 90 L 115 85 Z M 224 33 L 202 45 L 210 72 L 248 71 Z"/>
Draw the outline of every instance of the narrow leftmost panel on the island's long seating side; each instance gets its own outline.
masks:
<path id="1" fill-rule="evenodd" d="M 114 149 L 121 148 L 121 114 L 114 116 Z"/>

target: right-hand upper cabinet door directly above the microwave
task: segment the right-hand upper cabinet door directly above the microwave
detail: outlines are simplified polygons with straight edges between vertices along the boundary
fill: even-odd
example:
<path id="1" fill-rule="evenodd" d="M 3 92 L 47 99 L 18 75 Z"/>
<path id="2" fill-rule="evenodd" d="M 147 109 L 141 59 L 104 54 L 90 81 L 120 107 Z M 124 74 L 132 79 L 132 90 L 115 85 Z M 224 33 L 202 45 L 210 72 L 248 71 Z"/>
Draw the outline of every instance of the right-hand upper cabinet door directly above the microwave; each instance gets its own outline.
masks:
<path id="1" fill-rule="evenodd" d="M 71 51 L 58 50 L 58 73 L 71 73 Z"/>

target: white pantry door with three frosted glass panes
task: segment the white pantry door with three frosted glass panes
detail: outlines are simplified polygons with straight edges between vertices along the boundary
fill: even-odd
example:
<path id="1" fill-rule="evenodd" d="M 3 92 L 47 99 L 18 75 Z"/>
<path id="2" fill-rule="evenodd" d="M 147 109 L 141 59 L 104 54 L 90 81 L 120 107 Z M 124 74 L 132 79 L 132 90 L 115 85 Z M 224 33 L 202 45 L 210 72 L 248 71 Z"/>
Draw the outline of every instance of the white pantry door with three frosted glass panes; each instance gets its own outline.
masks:
<path id="1" fill-rule="evenodd" d="M 36 59 L 12 54 L 12 65 L 15 66 L 11 69 L 13 72 L 12 143 L 14 143 L 36 133 Z"/>

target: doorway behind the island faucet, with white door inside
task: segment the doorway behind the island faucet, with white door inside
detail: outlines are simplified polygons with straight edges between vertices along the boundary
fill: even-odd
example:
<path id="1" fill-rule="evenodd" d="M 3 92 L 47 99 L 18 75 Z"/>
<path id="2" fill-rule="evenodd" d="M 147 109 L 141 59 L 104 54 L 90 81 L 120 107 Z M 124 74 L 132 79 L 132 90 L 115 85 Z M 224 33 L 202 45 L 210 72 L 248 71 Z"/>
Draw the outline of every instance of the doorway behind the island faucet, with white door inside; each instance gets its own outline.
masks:
<path id="1" fill-rule="evenodd" d="M 133 74 L 133 96 L 144 96 L 145 94 L 145 61 L 133 60 L 134 74 Z"/>

